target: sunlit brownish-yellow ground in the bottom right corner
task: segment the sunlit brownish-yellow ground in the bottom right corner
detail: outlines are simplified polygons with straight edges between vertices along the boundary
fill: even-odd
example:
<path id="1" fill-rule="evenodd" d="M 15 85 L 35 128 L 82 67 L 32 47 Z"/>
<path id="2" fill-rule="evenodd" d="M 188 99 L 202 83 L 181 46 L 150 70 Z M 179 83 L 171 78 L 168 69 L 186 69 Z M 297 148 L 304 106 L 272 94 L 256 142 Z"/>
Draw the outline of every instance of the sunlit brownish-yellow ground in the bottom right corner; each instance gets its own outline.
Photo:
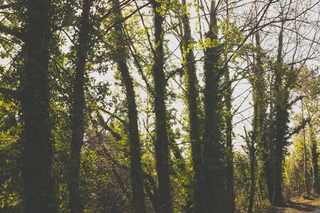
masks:
<path id="1" fill-rule="evenodd" d="M 302 213 L 312 212 L 320 213 L 320 197 L 310 197 L 305 199 L 303 197 L 292 198 L 286 202 L 286 207 L 271 207 L 268 206 L 263 212 L 268 213 Z"/>

